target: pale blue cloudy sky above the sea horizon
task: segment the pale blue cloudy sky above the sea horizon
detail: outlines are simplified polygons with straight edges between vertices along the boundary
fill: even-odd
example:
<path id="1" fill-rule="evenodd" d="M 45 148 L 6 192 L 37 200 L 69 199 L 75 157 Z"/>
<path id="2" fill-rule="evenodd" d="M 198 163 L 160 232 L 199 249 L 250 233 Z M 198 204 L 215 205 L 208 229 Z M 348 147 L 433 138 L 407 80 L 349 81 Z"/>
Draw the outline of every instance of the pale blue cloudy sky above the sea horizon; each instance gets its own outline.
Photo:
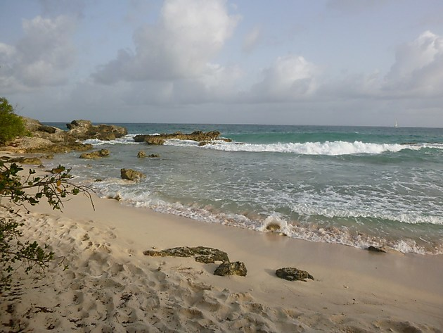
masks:
<path id="1" fill-rule="evenodd" d="M 46 122 L 443 127 L 443 1 L 0 0 L 0 96 Z"/>

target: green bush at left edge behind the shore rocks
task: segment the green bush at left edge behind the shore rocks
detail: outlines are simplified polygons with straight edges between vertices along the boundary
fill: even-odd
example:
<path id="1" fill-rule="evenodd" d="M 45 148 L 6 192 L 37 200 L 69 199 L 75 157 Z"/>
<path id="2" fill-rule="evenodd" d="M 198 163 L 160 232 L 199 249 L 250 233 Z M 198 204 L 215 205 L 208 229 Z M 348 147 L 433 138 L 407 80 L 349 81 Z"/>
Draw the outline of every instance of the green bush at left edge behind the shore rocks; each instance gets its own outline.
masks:
<path id="1" fill-rule="evenodd" d="M 14 113 L 7 99 L 0 97 L 0 144 L 25 134 L 23 118 Z"/>

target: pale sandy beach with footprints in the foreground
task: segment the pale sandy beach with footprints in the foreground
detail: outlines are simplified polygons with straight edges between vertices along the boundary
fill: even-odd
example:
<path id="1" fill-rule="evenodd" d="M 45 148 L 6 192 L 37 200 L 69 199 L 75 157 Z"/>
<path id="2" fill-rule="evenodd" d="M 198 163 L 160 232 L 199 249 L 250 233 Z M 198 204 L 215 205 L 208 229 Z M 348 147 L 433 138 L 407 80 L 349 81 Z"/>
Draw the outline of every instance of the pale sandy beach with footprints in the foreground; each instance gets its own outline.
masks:
<path id="1" fill-rule="evenodd" d="M 371 253 L 122 206 L 94 196 L 23 214 L 29 239 L 56 260 L 43 278 L 18 270 L 1 295 L 1 332 L 442 332 L 443 256 Z M 208 246 L 242 261 L 152 257 L 146 250 Z M 63 265 L 69 265 L 63 270 Z M 290 282 L 278 268 L 307 270 Z"/>

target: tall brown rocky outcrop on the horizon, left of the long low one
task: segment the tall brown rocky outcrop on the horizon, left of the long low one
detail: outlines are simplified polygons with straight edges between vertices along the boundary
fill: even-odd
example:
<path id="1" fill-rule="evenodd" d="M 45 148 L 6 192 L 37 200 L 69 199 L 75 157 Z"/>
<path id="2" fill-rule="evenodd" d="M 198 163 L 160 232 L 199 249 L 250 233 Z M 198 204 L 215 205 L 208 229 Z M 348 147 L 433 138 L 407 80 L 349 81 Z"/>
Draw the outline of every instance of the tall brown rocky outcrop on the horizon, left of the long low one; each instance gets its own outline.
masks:
<path id="1" fill-rule="evenodd" d="M 67 134 L 79 140 L 99 139 L 109 141 L 128 134 L 127 129 L 124 127 L 92 125 L 92 122 L 89 120 L 72 120 L 72 122 L 66 124 L 66 127 L 69 129 Z"/>

